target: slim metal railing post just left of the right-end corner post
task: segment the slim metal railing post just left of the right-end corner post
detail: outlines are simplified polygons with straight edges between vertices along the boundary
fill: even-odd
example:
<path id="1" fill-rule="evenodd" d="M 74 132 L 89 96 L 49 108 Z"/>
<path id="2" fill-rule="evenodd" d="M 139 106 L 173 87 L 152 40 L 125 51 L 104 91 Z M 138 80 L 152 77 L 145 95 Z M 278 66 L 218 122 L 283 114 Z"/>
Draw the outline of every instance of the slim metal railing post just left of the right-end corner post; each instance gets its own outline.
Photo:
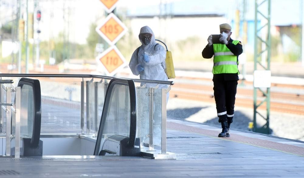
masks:
<path id="1" fill-rule="evenodd" d="M 154 151 L 154 144 L 153 144 L 153 133 L 154 133 L 154 88 L 149 89 L 149 96 L 150 96 L 150 110 L 149 110 L 149 150 Z"/>

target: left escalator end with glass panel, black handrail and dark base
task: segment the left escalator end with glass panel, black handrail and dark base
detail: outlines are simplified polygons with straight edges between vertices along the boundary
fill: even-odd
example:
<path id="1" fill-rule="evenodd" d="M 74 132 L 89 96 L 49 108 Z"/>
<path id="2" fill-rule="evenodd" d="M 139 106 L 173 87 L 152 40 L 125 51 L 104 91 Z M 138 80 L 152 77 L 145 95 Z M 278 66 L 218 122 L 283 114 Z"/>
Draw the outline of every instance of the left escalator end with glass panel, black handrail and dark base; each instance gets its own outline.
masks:
<path id="1" fill-rule="evenodd" d="M 20 132 L 20 155 L 42 156 L 43 142 L 40 140 L 41 130 L 41 89 L 37 79 L 21 78 L 18 82 L 20 94 L 20 127 L 16 127 L 16 117 L 12 117 L 12 134 Z M 13 108 L 16 108 L 16 96 Z M 20 129 L 20 130 L 19 130 Z M 15 138 L 16 139 L 16 138 Z M 14 144 L 14 139 L 11 141 Z M 14 153 L 15 148 L 11 147 Z"/>

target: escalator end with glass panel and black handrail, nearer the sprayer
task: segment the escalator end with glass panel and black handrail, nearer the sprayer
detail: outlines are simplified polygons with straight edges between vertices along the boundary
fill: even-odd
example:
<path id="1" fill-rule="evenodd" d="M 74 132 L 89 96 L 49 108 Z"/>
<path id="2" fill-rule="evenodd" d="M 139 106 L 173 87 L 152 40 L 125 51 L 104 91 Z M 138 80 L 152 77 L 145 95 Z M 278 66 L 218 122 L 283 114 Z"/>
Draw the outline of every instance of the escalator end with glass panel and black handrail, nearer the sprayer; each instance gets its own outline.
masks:
<path id="1" fill-rule="evenodd" d="M 140 156 L 136 106 L 134 81 L 113 78 L 105 95 L 94 155 Z"/>

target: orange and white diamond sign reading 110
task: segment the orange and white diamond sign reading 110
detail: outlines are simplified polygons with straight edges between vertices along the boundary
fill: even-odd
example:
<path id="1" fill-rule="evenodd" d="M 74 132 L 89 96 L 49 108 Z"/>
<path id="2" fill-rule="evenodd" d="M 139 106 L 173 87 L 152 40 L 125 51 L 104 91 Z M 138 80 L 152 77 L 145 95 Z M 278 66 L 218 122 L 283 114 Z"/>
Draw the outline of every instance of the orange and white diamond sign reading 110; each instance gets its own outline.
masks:
<path id="1" fill-rule="evenodd" d="M 102 54 L 98 55 L 96 60 L 102 65 L 107 75 L 116 74 L 119 69 L 126 65 L 126 60 L 119 52 L 116 46 L 109 47 Z"/>

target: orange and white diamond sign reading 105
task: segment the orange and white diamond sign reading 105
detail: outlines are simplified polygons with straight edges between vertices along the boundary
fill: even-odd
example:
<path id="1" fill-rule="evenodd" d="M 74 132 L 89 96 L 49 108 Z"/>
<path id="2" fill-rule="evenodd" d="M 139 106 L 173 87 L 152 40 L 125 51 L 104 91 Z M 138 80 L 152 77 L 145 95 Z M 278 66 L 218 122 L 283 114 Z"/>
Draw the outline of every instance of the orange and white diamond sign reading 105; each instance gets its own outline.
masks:
<path id="1" fill-rule="evenodd" d="M 95 30 L 110 45 L 114 45 L 126 33 L 126 26 L 111 13 Z"/>

